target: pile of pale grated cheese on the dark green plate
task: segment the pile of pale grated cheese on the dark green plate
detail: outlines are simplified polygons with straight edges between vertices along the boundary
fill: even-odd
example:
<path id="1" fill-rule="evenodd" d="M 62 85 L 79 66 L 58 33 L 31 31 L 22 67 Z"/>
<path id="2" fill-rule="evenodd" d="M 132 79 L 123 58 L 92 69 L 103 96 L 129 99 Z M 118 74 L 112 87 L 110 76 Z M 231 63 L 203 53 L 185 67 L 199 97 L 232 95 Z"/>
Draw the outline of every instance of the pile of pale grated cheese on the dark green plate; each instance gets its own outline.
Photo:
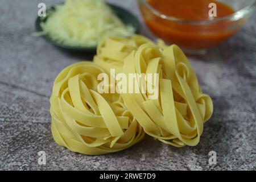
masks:
<path id="1" fill-rule="evenodd" d="M 94 47 L 109 36 L 129 37 L 134 27 L 125 25 L 102 0 L 67 0 L 42 22 L 40 35 L 67 46 Z"/>

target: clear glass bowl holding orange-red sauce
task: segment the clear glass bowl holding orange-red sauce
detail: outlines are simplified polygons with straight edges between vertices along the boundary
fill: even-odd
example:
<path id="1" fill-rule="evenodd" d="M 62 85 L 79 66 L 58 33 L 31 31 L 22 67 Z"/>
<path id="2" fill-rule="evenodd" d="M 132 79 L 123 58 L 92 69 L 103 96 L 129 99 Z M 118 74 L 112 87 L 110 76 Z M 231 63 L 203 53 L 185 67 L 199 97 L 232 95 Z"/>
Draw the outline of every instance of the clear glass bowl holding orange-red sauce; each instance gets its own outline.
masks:
<path id="1" fill-rule="evenodd" d="M 222 0 L 218 2 L 230 6 L 234 10 L 233 14 L 207 20 L 187 20 L 160 13 L 148 0 L 137 1 L 150 30 L 166 43 L 177 44 L 187 52 L 217 46 L 236 34 L 256 6 L 256 0 Z M 209 9 L 208 6 L 205 8 Z"/>

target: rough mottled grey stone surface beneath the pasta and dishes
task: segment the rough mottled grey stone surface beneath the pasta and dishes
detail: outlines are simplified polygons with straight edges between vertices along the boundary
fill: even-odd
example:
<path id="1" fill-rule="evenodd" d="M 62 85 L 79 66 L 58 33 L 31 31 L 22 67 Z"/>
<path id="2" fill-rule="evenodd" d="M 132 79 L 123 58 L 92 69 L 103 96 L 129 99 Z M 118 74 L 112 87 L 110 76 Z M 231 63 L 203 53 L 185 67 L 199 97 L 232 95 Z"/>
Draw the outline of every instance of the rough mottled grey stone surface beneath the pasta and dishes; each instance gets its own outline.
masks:
<path id="1" fill-rule="evenodd" d="M 228 42 L 190 58 L 215 106 L 196 147 L 175 148 L 146 137 L 125 151 L 86 156 L 53 141 L 49 96 L 61 69 L 91 56 L 61 52 L 31 36 L 39 2 L 58 1 L 0 0 L 0 169 L 256 169 L 255 14 Z M 141 17 L 135 0 L 112 2 Z M 152 38 L 143 23 L 142 34 Z M 38 164 L 41 150 L 46 166 Z M 216 166 L 208 164 L 211 150 L 217 152 Z"/>

